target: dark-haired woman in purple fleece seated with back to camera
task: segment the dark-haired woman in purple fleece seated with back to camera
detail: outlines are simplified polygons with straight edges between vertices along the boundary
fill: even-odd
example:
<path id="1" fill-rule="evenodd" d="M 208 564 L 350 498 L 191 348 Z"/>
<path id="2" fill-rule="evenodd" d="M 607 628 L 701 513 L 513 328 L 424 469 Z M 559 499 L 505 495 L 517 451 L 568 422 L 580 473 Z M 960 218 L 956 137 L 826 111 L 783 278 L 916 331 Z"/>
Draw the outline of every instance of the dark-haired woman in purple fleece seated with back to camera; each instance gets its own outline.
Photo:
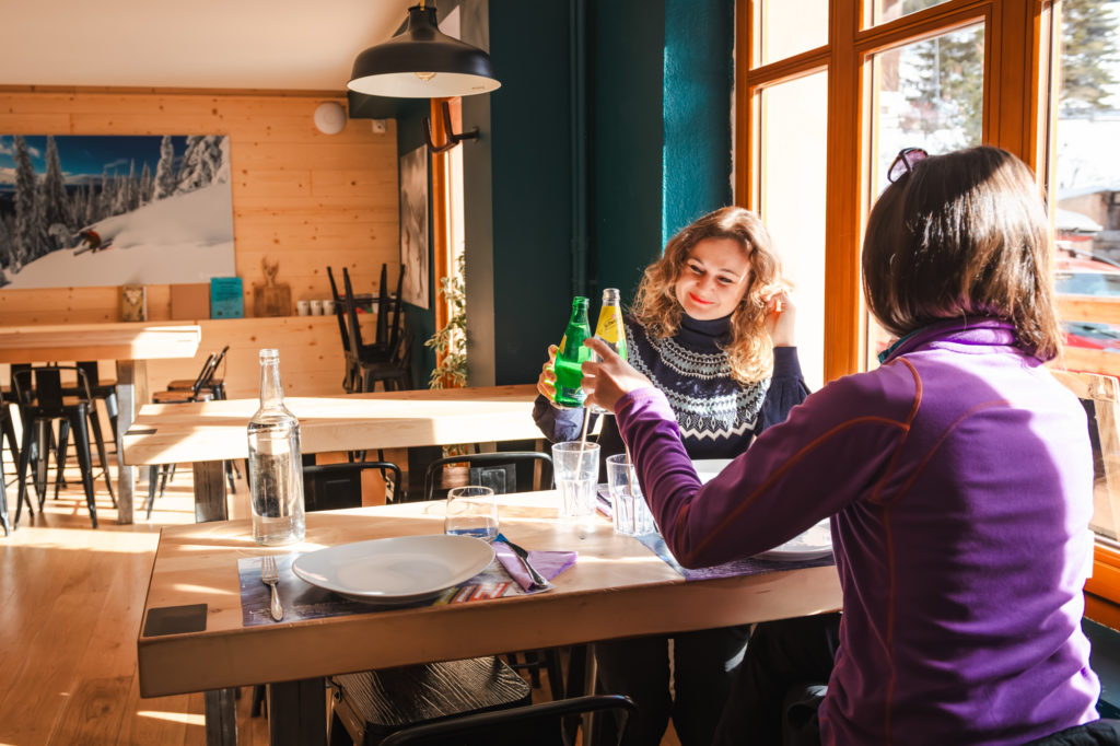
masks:
<path id="1" fill-rule="evenodd" d="M 1093 470 L 1084 411 L 1043 365 L 1061 351 L 1046 213 L 1004 150 L 924 156 L 899 153 L 864 242 L 868 305 L 899 341 L 708 484 L 664 395 L 588 343 L 604 362 L 584 388 L 615 411 L 682 565 L 831 516 L 843 613 L 760 625 L 724 743 L 778 743 L 786 690 L 818 677 L 824 744 L 1024 744 L 1096 718 L 1080 626 Z M 837 618 L 831 646 L 764 644 Z"/>

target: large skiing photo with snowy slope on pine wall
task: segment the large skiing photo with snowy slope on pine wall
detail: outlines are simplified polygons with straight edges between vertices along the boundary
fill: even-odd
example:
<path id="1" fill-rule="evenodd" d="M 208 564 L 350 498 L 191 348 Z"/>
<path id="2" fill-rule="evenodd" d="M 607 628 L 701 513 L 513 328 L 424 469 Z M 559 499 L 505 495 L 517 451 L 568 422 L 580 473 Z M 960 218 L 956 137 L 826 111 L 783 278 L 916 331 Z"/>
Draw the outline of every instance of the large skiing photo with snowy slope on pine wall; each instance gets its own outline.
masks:
<path id="1" fill-rule="evenodd" d="M 0 287 L 234 273 L 228 137 L 0 134 Z"/>

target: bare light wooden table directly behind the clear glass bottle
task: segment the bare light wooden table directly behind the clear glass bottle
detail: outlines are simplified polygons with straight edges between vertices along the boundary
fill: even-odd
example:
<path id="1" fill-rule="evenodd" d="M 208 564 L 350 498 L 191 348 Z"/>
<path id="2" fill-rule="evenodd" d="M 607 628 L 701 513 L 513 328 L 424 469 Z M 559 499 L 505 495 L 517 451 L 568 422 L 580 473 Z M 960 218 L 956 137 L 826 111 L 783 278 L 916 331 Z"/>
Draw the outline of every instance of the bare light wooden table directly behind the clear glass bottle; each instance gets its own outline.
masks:
<path id="1" fill-rule="evenodd" d="M 541 437 L 533 384 L 284 397 L 299 418 L 305 454 Z M 123 437 L 130 466 L 194 464 L 195 520 L 227 517 L 222 461 L 249 457 L 246 427 L 255 399 L 148 404 Z"/>

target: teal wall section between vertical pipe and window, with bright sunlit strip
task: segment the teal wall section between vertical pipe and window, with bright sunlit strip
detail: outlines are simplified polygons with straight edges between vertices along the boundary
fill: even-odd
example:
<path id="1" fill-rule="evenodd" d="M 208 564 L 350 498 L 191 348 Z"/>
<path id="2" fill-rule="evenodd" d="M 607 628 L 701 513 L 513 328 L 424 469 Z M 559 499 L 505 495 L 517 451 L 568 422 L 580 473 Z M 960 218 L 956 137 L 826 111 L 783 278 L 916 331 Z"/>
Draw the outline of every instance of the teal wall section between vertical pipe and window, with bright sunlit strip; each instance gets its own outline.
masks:
<path id="1" fill-rule="evenodd" d="M 589 285 L 633 299 L 684 225 L 731 202 L 734 0 L 590 3 Z"/>

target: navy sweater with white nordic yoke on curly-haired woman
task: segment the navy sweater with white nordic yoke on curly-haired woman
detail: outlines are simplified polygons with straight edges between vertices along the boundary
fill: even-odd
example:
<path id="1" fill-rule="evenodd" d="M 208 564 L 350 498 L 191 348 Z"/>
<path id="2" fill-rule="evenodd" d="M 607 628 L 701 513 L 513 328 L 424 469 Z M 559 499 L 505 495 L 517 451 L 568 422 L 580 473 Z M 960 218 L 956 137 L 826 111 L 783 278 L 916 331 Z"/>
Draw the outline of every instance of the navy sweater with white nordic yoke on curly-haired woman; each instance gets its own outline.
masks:
<path id="1" fill-rule="evenodd" d="M 685 316 L 675 336 L 659 339 L 626 317 L 629 363 L 668 397 L 681 440 L 692 458 L 738 456 L 755 436 L 784 421 L 790 410 L 809 395 L 796 347 L 775 347 L 772 379 L 748 384 L 735 381 L 719 346 L 729 330 L 729 316 L 712 321 Z M 561 409 L 538 397 L 533 420 L 552 442 L 578 440 L 584 410 Z M 599 445 L 600 464 L 607 456 L 623 453 L 614 417 L 603 423 Z"/>

